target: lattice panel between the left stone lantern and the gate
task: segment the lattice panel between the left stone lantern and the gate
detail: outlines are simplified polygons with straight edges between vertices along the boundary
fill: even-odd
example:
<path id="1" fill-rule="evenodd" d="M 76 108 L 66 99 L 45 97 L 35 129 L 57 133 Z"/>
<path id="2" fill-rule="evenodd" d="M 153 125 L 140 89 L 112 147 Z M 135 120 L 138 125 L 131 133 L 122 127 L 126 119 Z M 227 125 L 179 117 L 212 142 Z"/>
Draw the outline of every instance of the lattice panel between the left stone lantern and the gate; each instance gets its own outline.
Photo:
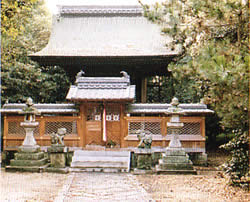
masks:
<path id="1" fill-rule="evenodd" d="M 66 135 L 77 135 L 77 122 L 46 122 L 45 134 L 57 133 L 58 128 L 66 128 Z"/>

